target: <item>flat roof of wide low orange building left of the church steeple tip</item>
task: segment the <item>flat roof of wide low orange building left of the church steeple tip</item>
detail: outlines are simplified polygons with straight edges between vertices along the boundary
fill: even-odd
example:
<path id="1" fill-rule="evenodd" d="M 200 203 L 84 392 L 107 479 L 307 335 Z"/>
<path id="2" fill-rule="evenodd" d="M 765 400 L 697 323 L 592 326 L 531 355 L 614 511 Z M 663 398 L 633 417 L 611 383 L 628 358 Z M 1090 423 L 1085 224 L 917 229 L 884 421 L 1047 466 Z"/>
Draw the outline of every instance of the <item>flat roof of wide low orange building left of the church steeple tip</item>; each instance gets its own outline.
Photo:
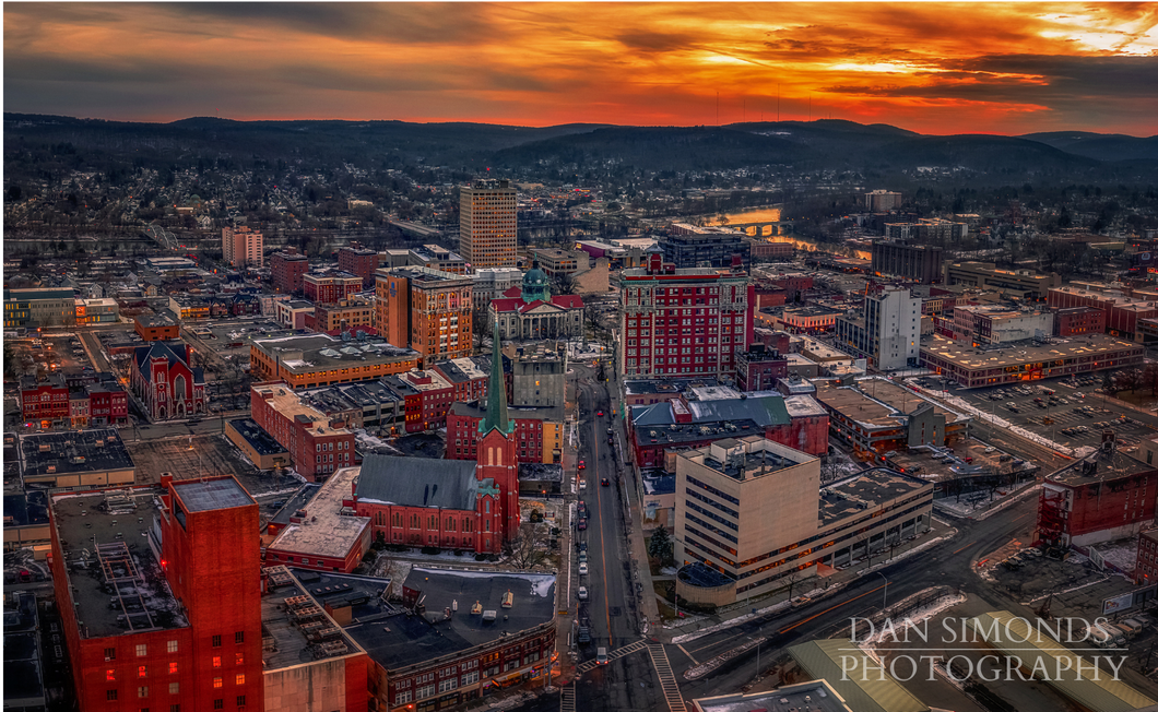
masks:
<path id="1" fill-rule="evenodd" d="M 279 359 L 281 367 L 291 373 L 396 364 L 418 358 L 417 351 L 391 346 L 380 338 L 343 342 L 324 333 L 254 339 L 252 345 L 270 358 Z"/>

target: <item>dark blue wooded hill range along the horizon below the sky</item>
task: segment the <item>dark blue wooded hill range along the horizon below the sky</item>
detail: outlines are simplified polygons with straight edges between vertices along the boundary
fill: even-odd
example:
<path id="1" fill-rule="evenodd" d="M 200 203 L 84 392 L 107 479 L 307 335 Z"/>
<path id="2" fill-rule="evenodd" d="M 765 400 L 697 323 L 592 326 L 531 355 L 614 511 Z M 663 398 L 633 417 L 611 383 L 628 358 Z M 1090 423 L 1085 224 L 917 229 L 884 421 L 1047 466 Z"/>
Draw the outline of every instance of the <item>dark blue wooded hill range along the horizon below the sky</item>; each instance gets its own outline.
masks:
<path id="1" fill-rule="evenodd" d="M 3 141 L 6 166 L 12 168 L 29 168 L 20 161 L 31 161 L 30 147 L 67 144 L 78 154 L 88 152 L 104 161 L 160 166 L 309 159 L 321 164 L 349 162 L 379 168 L 422 161 L 466 171 L 494 166 L 534 174 L 543 168 L 585 164 L 699 171 L 779 164 L 877 176 L 943 168 L 963 171 L 963 179 L 990 183 L 1158 178 L 1158 137 L 1087 132 L 943 137 L 887 124 L 827 119 L 726 126 L 526 127 L 215 117 L 146 124 L 5 113 Z"/>

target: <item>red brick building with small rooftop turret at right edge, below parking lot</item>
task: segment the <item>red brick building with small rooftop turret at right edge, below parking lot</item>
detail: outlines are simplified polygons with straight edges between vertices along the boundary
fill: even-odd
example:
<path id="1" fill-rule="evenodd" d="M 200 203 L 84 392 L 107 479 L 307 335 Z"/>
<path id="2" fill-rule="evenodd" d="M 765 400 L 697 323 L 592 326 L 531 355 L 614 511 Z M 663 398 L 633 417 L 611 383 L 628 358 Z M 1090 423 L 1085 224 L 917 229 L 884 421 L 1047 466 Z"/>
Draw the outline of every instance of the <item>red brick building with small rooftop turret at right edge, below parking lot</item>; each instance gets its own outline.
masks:
<path id="1" fill-rule="evenodd" d="M 1095 453 L 1048 476 L 1038 507 L 1038 538 L 1087 546 L 1134 536 L 1155 519 L 1158 469 L 1117 450 L 1104 431 Z"/>

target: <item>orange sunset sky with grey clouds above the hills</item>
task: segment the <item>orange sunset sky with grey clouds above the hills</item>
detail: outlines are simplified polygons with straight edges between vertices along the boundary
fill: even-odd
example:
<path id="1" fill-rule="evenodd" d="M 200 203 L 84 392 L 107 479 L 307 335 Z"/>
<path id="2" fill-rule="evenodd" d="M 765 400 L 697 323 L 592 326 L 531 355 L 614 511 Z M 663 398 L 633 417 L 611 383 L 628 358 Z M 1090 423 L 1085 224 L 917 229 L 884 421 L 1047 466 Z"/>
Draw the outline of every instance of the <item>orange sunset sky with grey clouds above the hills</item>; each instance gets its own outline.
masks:
<path id="1" fill-rule="evenodd" d="M 1151 135 L 1158 3 L 6 2 L 3 79 L 120 120 L 694 125 L 718 93 L 721 124 Z"/>

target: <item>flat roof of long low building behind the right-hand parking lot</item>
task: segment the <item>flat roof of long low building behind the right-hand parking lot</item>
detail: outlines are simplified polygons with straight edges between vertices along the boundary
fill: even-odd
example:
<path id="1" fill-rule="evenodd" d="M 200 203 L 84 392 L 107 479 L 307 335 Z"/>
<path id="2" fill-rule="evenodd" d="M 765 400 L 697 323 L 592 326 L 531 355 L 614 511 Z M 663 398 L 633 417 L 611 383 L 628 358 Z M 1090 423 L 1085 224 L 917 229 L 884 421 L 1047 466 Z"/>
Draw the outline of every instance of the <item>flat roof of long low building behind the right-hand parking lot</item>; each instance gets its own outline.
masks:
<path id="1" fill-rule="evenodd" d="M 1138 353 L 1142 353 L 1141 345 L 1115 339 L 1104 333 L 1093 333 L 1065 340 L 1055 339 L 1054 343 L 1049 344 L 1036 344 L 1033 340 L 1012 342 L 1002 345 L 999 348 L 988 348 L 984 351 L 958 344 L 943 336 L 933 336 L 922 342 L 921 355 L 922 358 L 935 355 L 954 365 L 976 369 L 1001 368 L 1004 366 L 1019 366 L 1021 364 L 1090 355 L 1097 357 L 1128 348 L 1134 348 Z"/>

